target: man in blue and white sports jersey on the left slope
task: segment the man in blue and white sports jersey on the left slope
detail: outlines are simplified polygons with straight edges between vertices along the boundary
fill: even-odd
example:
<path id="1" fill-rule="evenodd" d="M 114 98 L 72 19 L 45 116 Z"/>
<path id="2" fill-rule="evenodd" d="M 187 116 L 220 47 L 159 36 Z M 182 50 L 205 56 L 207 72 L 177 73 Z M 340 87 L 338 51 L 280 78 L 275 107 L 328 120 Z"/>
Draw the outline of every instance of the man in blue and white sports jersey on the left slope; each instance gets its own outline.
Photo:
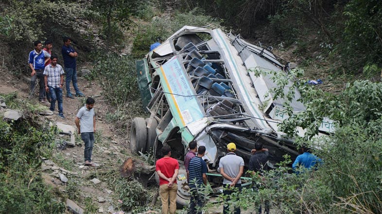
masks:
<path id="1" fill-rule="evenodd" d="M 35 49 L 29 53 L 29 67 L 32 70 L 31 73 L 31 94 L 35 93 L 37 78 L 39 79 L 39 91 L 38 91 L 38 99 L 41 103 L 45 102 L 45 91 L 44 91 L 44 69 L 45 69 L 45 55 L 42 51 L 41 41 L 34 42 Z"/>

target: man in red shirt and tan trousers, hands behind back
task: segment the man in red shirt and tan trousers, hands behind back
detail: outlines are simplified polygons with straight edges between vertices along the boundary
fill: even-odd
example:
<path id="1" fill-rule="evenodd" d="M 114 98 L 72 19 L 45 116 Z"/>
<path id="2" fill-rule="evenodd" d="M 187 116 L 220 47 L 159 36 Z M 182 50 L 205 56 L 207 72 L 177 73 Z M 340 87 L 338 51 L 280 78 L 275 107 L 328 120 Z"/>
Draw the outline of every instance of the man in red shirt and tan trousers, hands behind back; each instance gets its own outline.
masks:
<path id="1" fill-rule="evenodd" d="M 171 148 L 163 146 L 163 157 L 156 161 L 156 173 L 159 176 L 159 195 L 162 200 L 162 214 L 175 214 L 176 212 L 176 192 L 178 185 L 176 177 L 179 172 L 179 163 L 171 156 Z M 169 209 L 170 198 L 170 209 Z"/>

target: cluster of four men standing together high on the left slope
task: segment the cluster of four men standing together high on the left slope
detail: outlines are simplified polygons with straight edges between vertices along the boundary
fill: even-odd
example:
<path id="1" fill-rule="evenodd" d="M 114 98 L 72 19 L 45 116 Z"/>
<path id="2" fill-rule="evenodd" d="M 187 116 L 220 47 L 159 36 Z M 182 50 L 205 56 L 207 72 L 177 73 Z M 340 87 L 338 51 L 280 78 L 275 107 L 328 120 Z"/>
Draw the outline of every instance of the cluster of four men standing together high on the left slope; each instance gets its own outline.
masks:
<path id="1" fill-rule="evenodd" d="M 64 74 L 66 74 L 67 97 L 74 98 L 70 93 L 70 82 L 72 82 L 75 96 L 85 96 L 77 85 L 76 58 L 78 53 L 74 50 L 69 37 L 63 38 L 64 45 L 61 53 L 64 59 L 65 72 L 59 65 L 58 57 L 52 54 L 52 42 L 45 41 L 45 47 L 42 48 L 41 41 L 35 41 L 35 49 L 29 53 L 29 67 L 31 73 L 31 96 L 35 92 L 37 79 L 39 80 L 38 98 L 41 103 L 50 102 L 50 110 L 54 111 L 55 102 L 58 103 L 58 116 L 64 118 L 62 105 L 62 88 L 64 83 Z"/>

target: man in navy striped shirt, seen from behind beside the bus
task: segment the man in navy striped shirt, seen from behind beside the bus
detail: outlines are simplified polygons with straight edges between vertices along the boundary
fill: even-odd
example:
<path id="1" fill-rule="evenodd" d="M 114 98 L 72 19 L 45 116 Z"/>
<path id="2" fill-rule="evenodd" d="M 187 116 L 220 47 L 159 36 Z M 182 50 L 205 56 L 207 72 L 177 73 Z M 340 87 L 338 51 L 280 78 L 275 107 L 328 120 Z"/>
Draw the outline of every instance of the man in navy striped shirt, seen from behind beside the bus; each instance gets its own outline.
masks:
<path id="1" fill-rule="evenodd" d="M 198 155 L 196 155 L 194 158 L 191 159 L 190 165 L 189 165 L 189 172 L 190 172 L 190 193 L 191 193 L 191 200 L 190 200 L 190 210 L 189 214 L 201 214 L 202 213 L 202 207 L 203 207 L 203 195 L 201 195 L 199 191 L 201 191 L 202 187 L 207 185 L 207 164 L 202 159 L 204 154 L 206 153 L 206 147 L 200 146 L 198 148 Z M 198 206 L 196 209 L 195 206 Z"/>

